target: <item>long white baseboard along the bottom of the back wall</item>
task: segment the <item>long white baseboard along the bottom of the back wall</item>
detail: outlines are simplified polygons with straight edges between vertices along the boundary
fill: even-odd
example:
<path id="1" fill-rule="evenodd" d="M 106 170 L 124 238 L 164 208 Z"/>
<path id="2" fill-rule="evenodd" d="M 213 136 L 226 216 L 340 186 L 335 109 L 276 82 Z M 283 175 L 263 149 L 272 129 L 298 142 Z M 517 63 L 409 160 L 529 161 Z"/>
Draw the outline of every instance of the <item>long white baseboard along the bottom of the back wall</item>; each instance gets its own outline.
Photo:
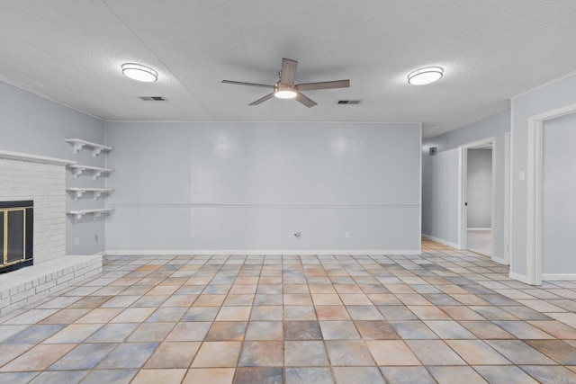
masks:
<path id="1" fill-rule="evenodd" d="M 105 251 L 104 255 L 422 255 L 419 249 L 154 249 Z"/>

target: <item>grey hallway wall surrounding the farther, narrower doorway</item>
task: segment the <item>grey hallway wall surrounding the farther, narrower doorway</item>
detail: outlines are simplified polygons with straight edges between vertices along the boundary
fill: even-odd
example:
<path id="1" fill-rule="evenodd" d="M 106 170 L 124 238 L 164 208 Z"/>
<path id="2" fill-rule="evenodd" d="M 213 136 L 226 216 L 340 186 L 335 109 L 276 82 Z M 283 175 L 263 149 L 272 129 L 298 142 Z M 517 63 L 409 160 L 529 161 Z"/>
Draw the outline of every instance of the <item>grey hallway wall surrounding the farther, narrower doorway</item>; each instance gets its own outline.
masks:
<path id="1" fill-rule="evenodd" d="M 510 113 L 502 112 L 482 121 L 429 138 L 422 144 L 422 233 L 448 244 L 458 243 L 458 147 L 482 138 L 495 137 L 493 257 L 503 258 L 504 239 L 504 134 L 510 129 Z M 428 148 L 437 147 L 436 156 Z"/>

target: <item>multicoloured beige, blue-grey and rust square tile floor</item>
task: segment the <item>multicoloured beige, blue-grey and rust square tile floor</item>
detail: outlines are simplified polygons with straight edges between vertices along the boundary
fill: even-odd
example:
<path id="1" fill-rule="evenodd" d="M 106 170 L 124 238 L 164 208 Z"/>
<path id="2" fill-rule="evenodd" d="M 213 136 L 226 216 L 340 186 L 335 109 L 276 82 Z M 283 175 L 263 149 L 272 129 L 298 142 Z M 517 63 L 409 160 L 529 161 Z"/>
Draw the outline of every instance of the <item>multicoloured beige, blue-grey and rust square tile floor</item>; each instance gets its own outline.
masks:
<path id="1" fill-rule="evenodd" d="M 423 246 L 109 257 L 0 317 L 0 382 L 576 383 L 576 282 Z"/>

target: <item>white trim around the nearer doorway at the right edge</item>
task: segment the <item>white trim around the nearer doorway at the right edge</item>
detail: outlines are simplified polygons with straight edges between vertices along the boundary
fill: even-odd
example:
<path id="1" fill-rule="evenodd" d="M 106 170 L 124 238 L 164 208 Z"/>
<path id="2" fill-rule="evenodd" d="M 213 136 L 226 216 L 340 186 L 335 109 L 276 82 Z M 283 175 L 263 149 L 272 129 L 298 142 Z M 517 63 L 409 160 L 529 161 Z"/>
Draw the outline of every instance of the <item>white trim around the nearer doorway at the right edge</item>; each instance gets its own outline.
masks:
<path id="1" fill-rule="evenodd" d="M 576 103 L 528 117 L 527 130 L 527 278 L 542 284 L 542 188 L 544 122 L 576 112 Z"/>

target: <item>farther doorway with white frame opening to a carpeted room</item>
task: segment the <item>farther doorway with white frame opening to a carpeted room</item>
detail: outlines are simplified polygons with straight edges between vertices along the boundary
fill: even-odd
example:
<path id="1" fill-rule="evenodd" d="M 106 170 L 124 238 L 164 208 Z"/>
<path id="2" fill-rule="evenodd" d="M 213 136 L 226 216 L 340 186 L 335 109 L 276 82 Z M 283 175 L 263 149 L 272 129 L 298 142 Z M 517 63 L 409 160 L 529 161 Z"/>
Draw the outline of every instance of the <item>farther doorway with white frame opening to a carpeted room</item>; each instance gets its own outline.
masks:
<path id="1" fill-rule="evenodd" d="M 494 138 L 460 147 L 459 247 L 493 255 Z"/>

